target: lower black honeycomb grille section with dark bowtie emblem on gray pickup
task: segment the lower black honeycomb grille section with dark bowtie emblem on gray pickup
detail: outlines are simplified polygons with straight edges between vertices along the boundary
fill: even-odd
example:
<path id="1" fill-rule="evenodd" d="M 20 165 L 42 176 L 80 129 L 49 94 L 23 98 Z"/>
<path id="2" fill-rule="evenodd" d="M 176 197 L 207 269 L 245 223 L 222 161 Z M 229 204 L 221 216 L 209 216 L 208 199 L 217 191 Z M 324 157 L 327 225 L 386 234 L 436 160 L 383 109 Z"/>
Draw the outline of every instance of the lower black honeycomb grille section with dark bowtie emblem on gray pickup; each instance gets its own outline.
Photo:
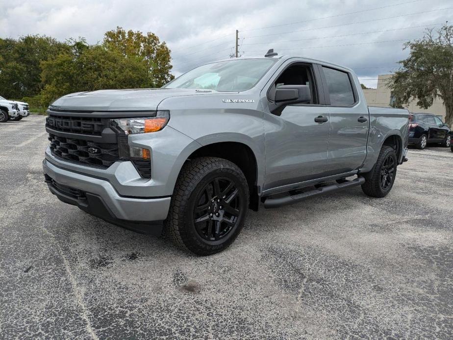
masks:
<path id="1" fill-rule="evenodd" d="M 117 160 L 118 145 L 49 134 L 50 151 L 56 157 L 85 165 L 108 168 Z"/>

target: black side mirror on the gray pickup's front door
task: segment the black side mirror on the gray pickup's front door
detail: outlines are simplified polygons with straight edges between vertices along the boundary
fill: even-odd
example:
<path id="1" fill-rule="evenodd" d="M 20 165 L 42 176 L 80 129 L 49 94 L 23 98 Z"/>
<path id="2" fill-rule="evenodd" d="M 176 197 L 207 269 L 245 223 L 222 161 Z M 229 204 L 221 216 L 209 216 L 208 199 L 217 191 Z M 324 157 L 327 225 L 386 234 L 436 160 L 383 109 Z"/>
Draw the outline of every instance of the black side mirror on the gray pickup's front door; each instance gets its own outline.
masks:
<path id="1" fill-rule="evenodd" d="M 280 85 L 274 95 L 275 103 L 270 105 L 271 112 L 280 116 L 286 105 L 310 103 L 311 93 L 308 85 Z"/>

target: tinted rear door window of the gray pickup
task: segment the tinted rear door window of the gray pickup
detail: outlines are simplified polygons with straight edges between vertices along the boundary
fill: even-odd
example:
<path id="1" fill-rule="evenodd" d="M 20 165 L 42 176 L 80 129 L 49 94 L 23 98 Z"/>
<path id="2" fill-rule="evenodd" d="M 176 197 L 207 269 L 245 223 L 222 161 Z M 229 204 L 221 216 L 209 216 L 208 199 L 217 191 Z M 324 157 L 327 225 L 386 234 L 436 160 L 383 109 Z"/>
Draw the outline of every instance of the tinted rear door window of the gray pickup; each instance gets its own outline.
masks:
<path id="1" fill-rule="evenodd" d="M 326 76 L 331 106 L 352 106 L 355 102 L 349 74 L 323 67 Z"/>

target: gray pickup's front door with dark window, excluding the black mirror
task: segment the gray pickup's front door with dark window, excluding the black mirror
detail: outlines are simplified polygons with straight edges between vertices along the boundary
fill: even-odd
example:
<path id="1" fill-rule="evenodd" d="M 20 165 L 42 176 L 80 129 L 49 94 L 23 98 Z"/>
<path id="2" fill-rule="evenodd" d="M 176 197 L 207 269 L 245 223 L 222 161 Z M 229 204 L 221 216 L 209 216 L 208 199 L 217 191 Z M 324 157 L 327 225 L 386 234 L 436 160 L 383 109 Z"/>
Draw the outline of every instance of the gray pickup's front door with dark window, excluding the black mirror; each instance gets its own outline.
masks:
<path id="1" fill-rule="evenodd" d="M 327 167 L 330 122 L 318 65 L 288 62 L 276 74 L 265 88 L 268 89 L 266 98 L 262 99 L 266 150 L 264 190 L 323 177 Z M 269 104 L 278 85 L 309 85 L 311 100 L 287 105 L 280 115 L 273 114 Z"/>

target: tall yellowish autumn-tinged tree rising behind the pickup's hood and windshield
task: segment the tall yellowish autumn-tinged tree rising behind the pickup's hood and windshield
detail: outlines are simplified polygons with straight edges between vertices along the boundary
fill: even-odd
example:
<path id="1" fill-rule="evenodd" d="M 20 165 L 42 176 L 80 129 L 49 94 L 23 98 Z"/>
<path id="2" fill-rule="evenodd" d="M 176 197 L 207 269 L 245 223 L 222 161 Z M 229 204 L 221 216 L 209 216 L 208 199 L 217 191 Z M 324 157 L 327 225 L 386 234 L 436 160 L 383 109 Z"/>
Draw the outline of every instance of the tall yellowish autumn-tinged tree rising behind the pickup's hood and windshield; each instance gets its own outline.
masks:
<path id="1" fill-rule="evenodd" d="M 141 58 L 147 66 L 150 87 L 161 87 L 174 78 L 170 73 L 173 67 L 171 51 L 154 33 L 126 32 L 122 27 L 117 27 L 105 32 L 103 45 L 108 50 L 120 51 L 126 57 Z"/>

